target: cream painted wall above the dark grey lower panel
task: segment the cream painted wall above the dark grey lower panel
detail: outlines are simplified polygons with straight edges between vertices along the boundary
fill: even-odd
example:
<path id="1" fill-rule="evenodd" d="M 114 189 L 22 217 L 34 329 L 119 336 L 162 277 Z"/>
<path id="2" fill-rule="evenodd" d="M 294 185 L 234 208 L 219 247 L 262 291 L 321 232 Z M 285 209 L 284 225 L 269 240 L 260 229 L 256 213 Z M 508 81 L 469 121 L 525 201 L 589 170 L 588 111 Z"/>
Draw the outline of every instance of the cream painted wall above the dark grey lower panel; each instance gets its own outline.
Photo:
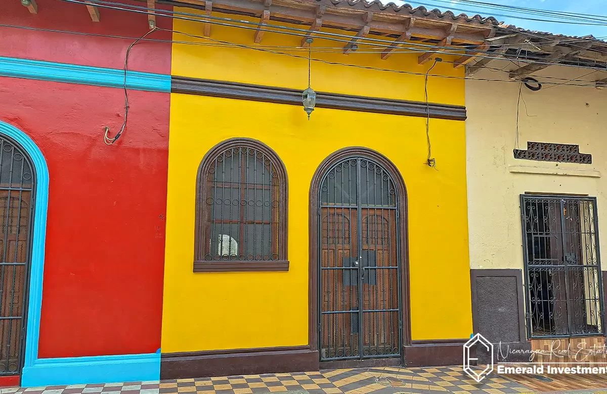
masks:
<path id="1" fill-rule="evenodd" d="M 507 67 L 493 62 L 490 67 Z M 580 79 L 582 68 L 552 66 L 541 77 Z M 507 79 L 505 72 L 481 70 L 472 78 Z M 604 78 L 599 73 L 583 79 Z M 583 193 L 597 197 L 600 246 L 607 250 L 607 90 L 557 85 L 521 89 L 518 134 L 527 141 L 578 144 L 592 164 L 514 159 L 518 83 L 466 81 L 466 150 L 470 268 L 523 268 L 520 194 Z M 525 110 L 525 103 L 527 113 Z M 558 175 L 557 175 L 558 174 Z M 602 232 L 603 230 L 603 232 Z M 602 256 L 604 257 L 604 256 Z M 607 261 L 603 258 L 603 270 Z"/>

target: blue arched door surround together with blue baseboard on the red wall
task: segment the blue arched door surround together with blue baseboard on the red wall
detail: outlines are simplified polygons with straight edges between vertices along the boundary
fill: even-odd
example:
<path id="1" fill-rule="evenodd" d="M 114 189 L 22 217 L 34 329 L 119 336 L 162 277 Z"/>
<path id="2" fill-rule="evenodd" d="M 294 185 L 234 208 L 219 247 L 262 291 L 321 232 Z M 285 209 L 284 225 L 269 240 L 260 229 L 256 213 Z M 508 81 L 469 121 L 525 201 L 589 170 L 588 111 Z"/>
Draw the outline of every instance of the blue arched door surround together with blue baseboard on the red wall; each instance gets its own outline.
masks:
<path id="1" fill-rule="evenodd" d="M 1 68 L 1 65 L 0 65 Z M 132 382 L 160 379 L 160 353 L 118 356 L 38 358 L 46 213 L 49 205 L 49 168 L 44 155 L 29 136 L 0 121 L 0 134 L 14 139 L 28 153 L 36 170 L 36 202 L 32 230 L 25 359 L 21 386 Z"/>

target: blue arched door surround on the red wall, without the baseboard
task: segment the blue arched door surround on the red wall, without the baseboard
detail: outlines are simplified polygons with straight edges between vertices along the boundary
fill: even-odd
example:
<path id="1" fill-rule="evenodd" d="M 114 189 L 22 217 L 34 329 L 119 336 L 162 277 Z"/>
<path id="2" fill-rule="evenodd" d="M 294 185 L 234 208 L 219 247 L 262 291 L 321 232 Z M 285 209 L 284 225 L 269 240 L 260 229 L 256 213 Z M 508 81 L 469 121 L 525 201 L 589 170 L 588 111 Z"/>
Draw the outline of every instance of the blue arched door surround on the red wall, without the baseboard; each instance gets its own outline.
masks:
<path id="1" fill-rule="evenodd" d="M 27 134 L 0 121 L 0 133 L 18 142 L 28 153 L 36 170 L 36 202 L 32 232 L 32 265 L 30 268 L 29 304 L 27 307 L 27 331 L 25 334 L 24 367 L 32 366 L 38 358 L 40 334 L 40 309 L 42 307 L 42 273 L 44 272 L 44 240 L 46 238 L 46 211 L 49 205 L 49 168 L 44 155 Z"/>

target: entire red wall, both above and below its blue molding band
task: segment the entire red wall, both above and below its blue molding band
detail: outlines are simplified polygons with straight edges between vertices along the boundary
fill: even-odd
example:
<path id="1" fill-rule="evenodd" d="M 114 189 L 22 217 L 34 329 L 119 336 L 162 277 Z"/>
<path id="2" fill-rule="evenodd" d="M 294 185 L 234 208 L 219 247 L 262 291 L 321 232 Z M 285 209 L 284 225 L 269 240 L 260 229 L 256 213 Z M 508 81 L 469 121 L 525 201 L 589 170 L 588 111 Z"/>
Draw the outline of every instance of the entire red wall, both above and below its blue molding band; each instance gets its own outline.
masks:
<path id="1" fill-rule="evenodd" d="M 144 15 L 37 0 L 2 1 L 1 24 L 141 36 Z M 138 3 L 145 4 L 145 3 Z M 167 23 L 169 25 L 167 25 Z M 159 19 L 160 26 L 170 21 Z M 152 33 L 170 38 L 170 33 Z M 131 39 L 0 28 L 0 55 L 122 68 Z M 170 73 L 171 44 L 134 46 L 129 68 Z M 0 120 L 27 133 L 49 165 L 39 357 L 151 353 L 160 347 L 169 93 L 0 78 Z"/>

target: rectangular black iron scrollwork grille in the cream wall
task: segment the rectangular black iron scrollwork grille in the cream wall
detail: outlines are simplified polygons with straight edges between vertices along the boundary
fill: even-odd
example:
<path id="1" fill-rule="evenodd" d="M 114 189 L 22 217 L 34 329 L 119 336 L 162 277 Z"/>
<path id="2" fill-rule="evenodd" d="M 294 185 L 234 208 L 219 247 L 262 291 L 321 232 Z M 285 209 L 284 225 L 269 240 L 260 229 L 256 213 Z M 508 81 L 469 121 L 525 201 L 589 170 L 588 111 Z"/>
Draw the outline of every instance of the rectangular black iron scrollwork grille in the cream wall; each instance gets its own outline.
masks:
<path id="1" fill-rule="evenodd" d="M 529 338 L 601 335 L 597 202 L 521 195 Z"/>

